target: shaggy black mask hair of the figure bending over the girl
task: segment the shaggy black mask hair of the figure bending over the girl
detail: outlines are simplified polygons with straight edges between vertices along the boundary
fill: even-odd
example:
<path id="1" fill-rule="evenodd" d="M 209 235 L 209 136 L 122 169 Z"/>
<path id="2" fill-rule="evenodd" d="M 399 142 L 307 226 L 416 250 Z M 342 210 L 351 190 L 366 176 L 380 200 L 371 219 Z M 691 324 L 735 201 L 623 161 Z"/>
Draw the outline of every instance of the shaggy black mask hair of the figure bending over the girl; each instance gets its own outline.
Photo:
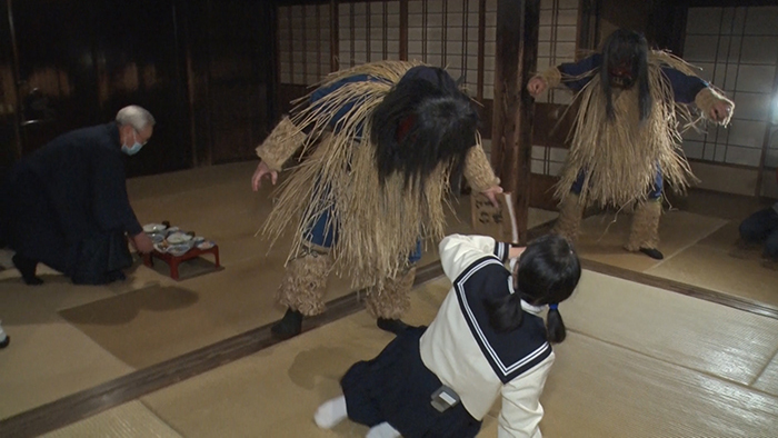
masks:
<path id="1" fill-rule="evenodd" d="M 397 171 L 406 187 L 423 188 L 441 162 L 452 163 L 452 175 L 459 173 L 477 129 L 470 98 L 443 69 L 408 70 L 372 115 L 370 140 L 381 185 Z"/>

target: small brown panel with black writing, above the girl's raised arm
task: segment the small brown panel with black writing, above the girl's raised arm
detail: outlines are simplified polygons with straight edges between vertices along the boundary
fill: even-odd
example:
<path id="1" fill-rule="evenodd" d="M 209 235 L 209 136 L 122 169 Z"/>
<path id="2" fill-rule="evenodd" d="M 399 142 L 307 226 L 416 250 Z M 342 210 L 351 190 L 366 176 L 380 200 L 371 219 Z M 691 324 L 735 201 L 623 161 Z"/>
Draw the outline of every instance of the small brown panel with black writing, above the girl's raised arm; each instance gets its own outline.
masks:
<path id="1" fill-rule="evenodd" d="M 472 229 L 475 233 L 491 236 L 497 241 L 518 243 L 519 230 L 516 227 L 513 200 L 510 193 L 499 193 L 496 198 L 500 205 L 499 208 L 482 193 L 470 196 Z"/>

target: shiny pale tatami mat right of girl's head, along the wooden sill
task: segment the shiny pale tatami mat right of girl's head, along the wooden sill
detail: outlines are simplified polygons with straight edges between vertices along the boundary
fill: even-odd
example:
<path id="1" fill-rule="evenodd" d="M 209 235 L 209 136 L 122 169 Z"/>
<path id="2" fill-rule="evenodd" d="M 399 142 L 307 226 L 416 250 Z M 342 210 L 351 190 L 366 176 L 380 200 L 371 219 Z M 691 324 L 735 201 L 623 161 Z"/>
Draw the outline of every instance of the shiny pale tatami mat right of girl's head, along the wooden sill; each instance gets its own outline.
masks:
<path id="1" fill-rule="evenodd" d="M 592 271 L 559 309 L 580 334 L 742 385 L 778 350 L 778 320 Z"/>

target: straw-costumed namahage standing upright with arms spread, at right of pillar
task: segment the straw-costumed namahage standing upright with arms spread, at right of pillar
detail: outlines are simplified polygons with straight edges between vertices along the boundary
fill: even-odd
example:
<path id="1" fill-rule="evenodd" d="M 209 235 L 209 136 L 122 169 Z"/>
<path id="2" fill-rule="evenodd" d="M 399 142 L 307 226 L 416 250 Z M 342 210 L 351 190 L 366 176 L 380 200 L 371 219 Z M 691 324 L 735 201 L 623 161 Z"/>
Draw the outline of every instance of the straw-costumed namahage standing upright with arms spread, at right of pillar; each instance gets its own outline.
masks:
<path id="1" fill-rule="evenodd" d="M 679 148 L 681 121 L 727 125 L 734 103 L 697 77 L 691 66 L 646 39 L 619 29 L 601 52 L 535 76 L 531 96 L 563 84 L 580 103 L 570 152 L 557 185 L 561 199 L 553 231 L 575 240 L 587 205 L 635 206 L 625 248 L 661 259 L 659 217 L 664 181 L 684 191 L 694 179 Z M 701 118 L 691 115 L 695 103 Z"/>

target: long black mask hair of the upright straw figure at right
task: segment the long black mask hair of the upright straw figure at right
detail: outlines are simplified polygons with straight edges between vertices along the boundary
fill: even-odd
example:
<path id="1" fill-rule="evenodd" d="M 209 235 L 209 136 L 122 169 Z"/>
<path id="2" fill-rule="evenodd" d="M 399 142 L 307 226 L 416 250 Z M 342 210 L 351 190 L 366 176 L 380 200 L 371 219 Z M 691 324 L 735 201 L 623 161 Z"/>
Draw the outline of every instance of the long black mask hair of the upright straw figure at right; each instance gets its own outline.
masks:
<path id="1" fill-rule="evenodd" d="M 629 71 L 628 76 L 616 77 L 616 70 Z M 614 101 L 611 88 L 614 84 L 622 88 L 638 86 L 638 104 L 640 120 L 646 120 L 651 112 L 651 93 L 648 89 L 648 42 L 635 31 L 618 29 L 611 33 L 602 46 L 602 67 L 600 68 L 600 84 L 607 99 L 606 113 L 614 120 Z"/>

